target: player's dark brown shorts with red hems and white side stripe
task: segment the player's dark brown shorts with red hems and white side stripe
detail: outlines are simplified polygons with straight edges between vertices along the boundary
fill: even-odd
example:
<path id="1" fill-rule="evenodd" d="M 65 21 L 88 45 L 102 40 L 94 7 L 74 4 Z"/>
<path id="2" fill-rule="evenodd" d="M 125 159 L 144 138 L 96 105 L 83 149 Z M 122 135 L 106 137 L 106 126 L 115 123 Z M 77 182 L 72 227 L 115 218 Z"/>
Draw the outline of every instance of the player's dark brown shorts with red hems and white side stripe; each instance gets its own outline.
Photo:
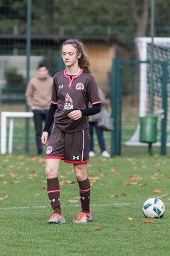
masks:
<path id="1" fill-rule="evenodd" d="M 52 128 L 45 159 L 62 159 L 71 164 L 89 162 L 89 129 L 65 133 L 56 124 Z"/>

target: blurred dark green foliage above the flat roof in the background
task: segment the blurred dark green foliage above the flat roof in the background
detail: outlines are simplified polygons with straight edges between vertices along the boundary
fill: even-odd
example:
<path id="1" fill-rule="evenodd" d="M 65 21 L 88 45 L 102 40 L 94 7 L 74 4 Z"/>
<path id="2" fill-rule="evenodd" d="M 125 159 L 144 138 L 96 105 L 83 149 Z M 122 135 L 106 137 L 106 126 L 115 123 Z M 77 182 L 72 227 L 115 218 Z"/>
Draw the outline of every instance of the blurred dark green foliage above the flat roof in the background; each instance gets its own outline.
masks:
<path id="1" fill-rule="evenodd" d="M 26 0 L 0 0 L 0 33 L 26 33 Z M 150 0 L 42 0 L 32 3 L 37 35 L 114 35 L 132 46 L 150 35 Z M 155 36 L 169 35 L 170 1 L 155 1 Z"/>

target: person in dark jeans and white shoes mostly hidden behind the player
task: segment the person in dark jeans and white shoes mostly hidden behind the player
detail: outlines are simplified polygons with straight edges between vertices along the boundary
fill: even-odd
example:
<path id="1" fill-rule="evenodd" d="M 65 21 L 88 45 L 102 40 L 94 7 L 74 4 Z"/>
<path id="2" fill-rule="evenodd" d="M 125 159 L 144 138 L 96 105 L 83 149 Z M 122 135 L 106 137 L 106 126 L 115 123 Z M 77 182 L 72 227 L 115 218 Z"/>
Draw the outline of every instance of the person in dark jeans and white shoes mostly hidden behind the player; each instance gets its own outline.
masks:
<path id="1" fill-rule="evenodd" d="M 98 95 L 102 100 L 102 105 L 108 105 L 108 101 L 106 100 L 105 95 L 103 94 L 101 89 L 98 89 Z M 110 154 L 106 151 L 105 139 L 103 136 L 103 130 L 98 127 L 98 118 L 100 113 L 94 114 L 93 116 L 89 117 L 89 133 L 90 133 L 90 149 L 89 149 L 89 156 L 94 157 L 96 156 L 94 151 L 94 129 L 96 130 L 98 144 L 101 149 L 101 156 L 103 157 L 111 157 Z"/>

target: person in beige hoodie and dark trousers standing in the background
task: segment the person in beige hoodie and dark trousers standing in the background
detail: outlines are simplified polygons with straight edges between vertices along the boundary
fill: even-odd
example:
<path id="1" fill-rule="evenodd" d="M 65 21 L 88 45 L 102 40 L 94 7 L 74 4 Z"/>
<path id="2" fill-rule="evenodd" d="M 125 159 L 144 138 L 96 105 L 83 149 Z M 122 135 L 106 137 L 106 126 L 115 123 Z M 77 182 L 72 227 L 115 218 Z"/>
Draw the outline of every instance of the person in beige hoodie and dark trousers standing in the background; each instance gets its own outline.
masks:
<path id="1" fill-rule="evenodd" d="M 45 122 L 47 119 L 51 95 L 52 77 L 48 73 L 47 66 L 40 63 L 38 65 L 37 75 L 35 78 L 30 79 L 26 89 L 26 101 L 30 110 L 33 111 L 35 142 L 38 154 L 42 154 L 42 122 Z"/>

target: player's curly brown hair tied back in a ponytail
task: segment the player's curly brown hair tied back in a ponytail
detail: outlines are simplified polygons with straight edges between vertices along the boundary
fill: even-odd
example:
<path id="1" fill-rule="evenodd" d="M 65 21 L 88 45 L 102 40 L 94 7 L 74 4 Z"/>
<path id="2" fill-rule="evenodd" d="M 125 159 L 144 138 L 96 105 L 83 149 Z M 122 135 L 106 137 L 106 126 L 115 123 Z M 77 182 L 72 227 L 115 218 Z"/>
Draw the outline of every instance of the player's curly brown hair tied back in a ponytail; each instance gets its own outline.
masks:
<path id="1" fill-rule="evenodd" d="M 91 73 L 90 63 L 89 63 L 89 59 L 86 55 L 84 44 L 81 41 L 79 41 L 78 39 L 68 39 L 67 41 L 65 41 L 62 44 L 62 47 L 67 44 L 71 44 L 72 46 L 74 46 L 74 48 L 76 48 L 77 55 L 79 53 L 81 53 L 81 57 L 78 60 L 79 68 L 84 69 L 84 72 L 86 72 L 86 73 Z"/>

